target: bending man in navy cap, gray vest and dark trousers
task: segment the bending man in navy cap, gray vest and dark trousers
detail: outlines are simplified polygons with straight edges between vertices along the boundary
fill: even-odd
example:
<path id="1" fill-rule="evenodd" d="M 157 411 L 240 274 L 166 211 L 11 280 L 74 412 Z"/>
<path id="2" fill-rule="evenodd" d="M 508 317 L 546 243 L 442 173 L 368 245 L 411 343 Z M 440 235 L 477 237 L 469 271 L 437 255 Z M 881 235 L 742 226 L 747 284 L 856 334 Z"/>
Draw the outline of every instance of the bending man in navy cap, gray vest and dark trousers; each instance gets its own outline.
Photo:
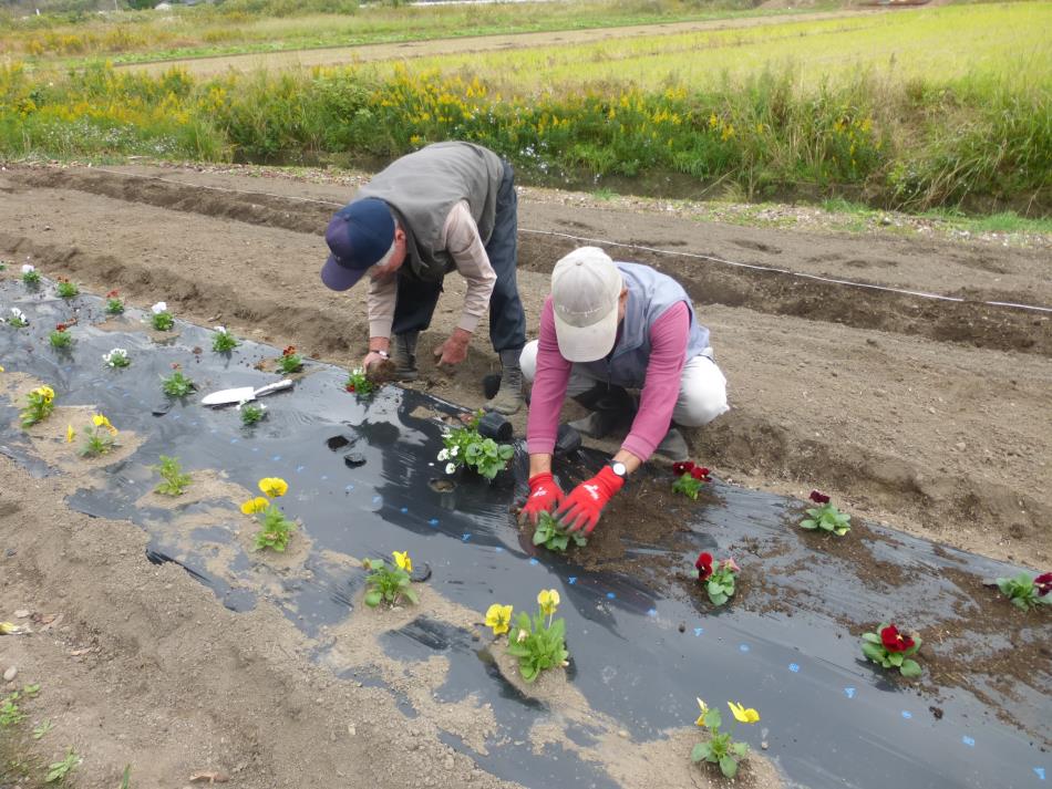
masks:
<path id="1" fill-rule="evenodd" d="M 435 143 L 396 159 L 337 211 L 326 241 L 321 281 L 348 290 L 369 273 L 369 354 L 391 357 L 401 381 L 417 377 L 416 340 L 431 324 L 442 280 L 467 281 L 464 310 L 440 347 L 440 364 L 467 357 L 472 333 L 489 307 L 489 339 L 503 375 L 486 408 L 514 414 L 523 405 L 519 355 L 526 316 L 515 280 L 518 198 L 512 166 L 472 143 Z"/>

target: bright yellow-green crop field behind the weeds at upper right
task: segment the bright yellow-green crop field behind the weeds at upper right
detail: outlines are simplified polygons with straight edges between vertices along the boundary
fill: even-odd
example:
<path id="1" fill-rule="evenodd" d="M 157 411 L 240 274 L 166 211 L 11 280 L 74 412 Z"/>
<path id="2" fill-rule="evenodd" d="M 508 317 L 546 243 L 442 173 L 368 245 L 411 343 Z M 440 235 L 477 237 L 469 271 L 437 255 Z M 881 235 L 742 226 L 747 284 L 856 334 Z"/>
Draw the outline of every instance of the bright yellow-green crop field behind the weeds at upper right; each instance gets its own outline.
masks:
<path id="1" fill-rule="evenodd" d="M 472 72 L 516 92 L 596 81 L 641 87 L 711 85 L 764 69 L 795 70 L 804 83 L 868 71 L 880 77 L 1052 80 L 1052 3 L 899 9 L 822 21 L 592 44 L 560 44 L 415 60 L 417 70 Z"/>

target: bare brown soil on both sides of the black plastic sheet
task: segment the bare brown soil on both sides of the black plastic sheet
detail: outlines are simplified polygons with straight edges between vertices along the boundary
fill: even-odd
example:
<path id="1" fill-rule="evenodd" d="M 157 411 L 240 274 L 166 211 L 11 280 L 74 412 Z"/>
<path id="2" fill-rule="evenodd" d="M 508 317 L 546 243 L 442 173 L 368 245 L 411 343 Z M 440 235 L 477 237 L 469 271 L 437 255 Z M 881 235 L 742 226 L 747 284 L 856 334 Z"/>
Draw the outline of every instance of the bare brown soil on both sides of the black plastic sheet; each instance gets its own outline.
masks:
<path id="1" fill-rule="evenodd" d="M 324 226 L 361 181 L 9 167 L 0 276 L 31 262 L 84 290 L 165 300 L 181 318 L 352 366 L 365 347 L 364 293 L 332 293 L 318 271 Z M 580 243 L 687 287 L 730 382 L 732 411 L 689 436 L 719 476 L 801 497 L 817 487 L 859 519 L 1049 569 L 1052 314 L 983 303 L 1052 305 L 1046 246 L 750 229 L 538 189 L 522 190 L 519 226 L 533 335 L 551 267 Z M 498 368 L 485 338 L 453 375 L 429 361 L 462 292 L 450 278 L 416 385 L 477 406 L 481 377 Z M 525 414 L 515 422 L 520 434 Z M 0 470 L 0 620 L 63 614 L 50 637 L 0 640 L 0 668 L 19 667 L 10 687 L 50 686 L 41 715 L 112 765 L 78 786 L 117 786 L 132 761 L 133 786 L 176 789 L 209 770 L 240 787 L 502 786 L 442 745 L 427 716 L 406 721 L 383 691 L 316 665 L 277 611 L 226 611 L 179 568 L 149 564 L 134 526 L 72 512 L 74 479 L 33 480 L 4 457 Z M 348 764 L 360 767 L 347 775 Z M 632 769 L 619 772 L 625 786 L 637 786 Z"/>

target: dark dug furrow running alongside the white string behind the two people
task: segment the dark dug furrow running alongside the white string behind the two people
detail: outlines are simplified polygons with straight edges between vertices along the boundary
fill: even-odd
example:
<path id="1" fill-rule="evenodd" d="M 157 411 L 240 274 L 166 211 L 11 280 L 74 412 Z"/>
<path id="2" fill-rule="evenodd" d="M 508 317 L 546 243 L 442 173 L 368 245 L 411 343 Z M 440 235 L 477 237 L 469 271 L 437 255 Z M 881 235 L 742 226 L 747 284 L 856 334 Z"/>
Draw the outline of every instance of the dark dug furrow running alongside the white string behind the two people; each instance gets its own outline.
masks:
<path id="1" fill-rule="evenodd" d="M 333 205 L 326 201 L 223 191 L 91 170 L 31 168 L 20 170 L 17 178 L 32 187 L 75 189 L 312 235 L 323 233 L 333 210 Z M 519 268 L 549 272 L 556 260 L 578 245 L 573 238 L 524 232 L 519 240 Z M 951 293 L 967 299 L 963 302 L 932 300 L 747 268 L 703 264 L 699 255 L 720 257 L 704 250 L 693 256 L 677 256 L 641 248 L 633 249 L 631 257 L 677 277 L 699 304 L 744 307 L 769 314 L 897 332 L 939 342 L 1052 356 L 1052 315 L 982 303 L 1025 303 L 1029 298 L 1025 292 L 969 289 L 965 293 Z"/>

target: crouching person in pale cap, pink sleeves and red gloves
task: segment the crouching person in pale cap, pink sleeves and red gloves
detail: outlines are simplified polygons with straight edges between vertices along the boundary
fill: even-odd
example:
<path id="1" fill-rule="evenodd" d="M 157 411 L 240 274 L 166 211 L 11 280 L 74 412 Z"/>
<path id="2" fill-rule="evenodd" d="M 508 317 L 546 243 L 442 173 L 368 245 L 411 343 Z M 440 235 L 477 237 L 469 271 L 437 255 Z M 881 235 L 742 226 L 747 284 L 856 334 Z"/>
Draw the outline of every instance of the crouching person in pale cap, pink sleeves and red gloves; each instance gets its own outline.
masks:
<path id="1" fill-rule="evenodd" d="M 533 522 L 555 510 L 564 527 L 591 533 L 602 508 L 659 445 L 668 459 L 687 459 L 672 423 L 699 427 L 728 411 L 726 378 L 683 288 L 649 266 L 616 263 L 596 247 L 556 263 L 540 336 L 526 344 L 520 361 L 533 382 L 529 497 L 520 517 Z M 551 476 L 559 412 L 567 395 L 597 384 L 640 390 L 639 408 L 609 464 L 564 495 Z"/>

